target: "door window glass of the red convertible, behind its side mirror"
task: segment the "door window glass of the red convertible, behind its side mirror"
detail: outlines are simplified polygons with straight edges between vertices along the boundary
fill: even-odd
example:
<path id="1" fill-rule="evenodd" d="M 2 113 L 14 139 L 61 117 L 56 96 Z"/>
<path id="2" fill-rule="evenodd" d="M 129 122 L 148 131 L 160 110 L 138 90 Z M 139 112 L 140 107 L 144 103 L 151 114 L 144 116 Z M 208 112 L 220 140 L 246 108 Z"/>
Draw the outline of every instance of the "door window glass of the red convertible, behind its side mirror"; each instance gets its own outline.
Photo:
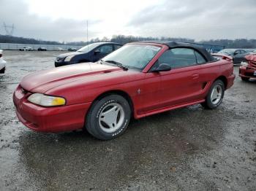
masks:
<path id="1" fill-rule="evenodd" d="M 172 69 L 197 65 L 195 51 L 189 48 L 174 48 L 165 51 L 158 59 L 158 64 L 167 63 Z"/>

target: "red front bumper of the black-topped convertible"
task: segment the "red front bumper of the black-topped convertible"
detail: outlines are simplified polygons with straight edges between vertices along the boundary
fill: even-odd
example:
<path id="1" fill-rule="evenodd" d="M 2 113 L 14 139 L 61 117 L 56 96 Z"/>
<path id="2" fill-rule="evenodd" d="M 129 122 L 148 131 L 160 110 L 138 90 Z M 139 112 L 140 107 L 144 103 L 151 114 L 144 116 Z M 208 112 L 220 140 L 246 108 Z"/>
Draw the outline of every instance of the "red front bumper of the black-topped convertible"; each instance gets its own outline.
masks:
<path id="1" fill-rule="evenodd" d="M 91 103 L 70 106 L 43 107 L 31 104 L 20 85 L 13 94 L 16 114 L 26 127 L 41 132 L 58 133 L 83 128 Z"/>

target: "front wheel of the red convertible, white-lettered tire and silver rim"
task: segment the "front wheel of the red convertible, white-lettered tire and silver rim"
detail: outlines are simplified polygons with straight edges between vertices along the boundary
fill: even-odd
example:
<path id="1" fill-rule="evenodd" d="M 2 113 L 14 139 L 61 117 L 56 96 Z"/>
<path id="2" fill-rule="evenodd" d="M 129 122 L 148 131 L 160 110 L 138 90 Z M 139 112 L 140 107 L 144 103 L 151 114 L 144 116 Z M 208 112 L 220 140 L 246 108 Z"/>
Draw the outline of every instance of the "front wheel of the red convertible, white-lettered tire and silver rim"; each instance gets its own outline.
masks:
<path id="1" fill-rule="evenodd" d="M 107 95 L 91 105 L 86 130 L 97 139 L 114 139 L 127 129 L 130 117 L 131 108 L 124 97 Z"/>

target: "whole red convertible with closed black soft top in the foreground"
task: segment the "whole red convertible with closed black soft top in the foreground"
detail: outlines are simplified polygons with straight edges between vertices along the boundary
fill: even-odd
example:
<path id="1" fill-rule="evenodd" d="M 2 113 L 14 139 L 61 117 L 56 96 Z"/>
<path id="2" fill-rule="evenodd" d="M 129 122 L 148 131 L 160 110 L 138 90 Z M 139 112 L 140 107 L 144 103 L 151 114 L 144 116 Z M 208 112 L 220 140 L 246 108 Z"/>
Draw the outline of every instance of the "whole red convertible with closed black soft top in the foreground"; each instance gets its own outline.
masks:
<path id="1" fill-rule="evenodd" d="M 13 95 L 28 128 L 60 132 L 86 128 L 97 139 L 124 133 L 139 119 L 192 104 L 215 109 L 233 85 L 233 61 L 187 43 L 136 42 L 97 63 L 38 71 Z"/>

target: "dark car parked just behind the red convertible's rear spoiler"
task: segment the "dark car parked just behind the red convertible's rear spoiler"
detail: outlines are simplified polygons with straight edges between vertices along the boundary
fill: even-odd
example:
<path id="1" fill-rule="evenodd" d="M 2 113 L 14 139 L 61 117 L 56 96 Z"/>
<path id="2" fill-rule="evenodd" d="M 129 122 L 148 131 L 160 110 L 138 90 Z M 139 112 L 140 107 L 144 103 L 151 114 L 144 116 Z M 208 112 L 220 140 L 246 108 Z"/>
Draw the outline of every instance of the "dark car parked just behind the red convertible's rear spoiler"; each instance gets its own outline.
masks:
<path id="1" fill-rule="evenodd" d="M 249 52 L 242 49 L 223 49 L 220 50 L 218 54 L 230 55 L 233 57 L 233 63 L 238 64 L 242 61 L 246 61 L 245 56 L 249 55 Z"/>

